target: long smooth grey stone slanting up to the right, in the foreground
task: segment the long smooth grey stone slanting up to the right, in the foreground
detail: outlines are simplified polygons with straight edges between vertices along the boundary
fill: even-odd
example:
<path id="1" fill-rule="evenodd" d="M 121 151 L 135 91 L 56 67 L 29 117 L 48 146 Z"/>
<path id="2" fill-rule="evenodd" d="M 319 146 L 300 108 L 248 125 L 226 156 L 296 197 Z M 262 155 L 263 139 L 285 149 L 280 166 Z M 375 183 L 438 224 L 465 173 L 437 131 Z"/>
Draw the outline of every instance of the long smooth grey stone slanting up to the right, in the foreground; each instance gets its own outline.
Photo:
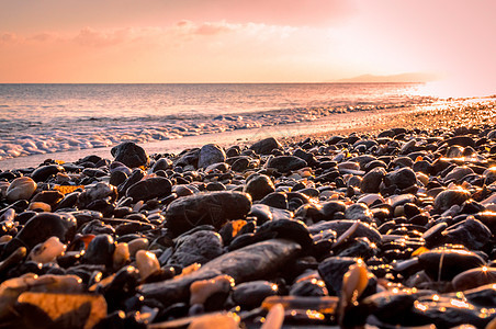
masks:
<path id="1" fill-rule="evenodd" d="M 207 262 L 200 270 L 173 280 L 140 285 L 145 298 L 155 298 L 166 305 L 185 300 L 190 285 L 199 280 L 221 274 L 232 276 L 236 284 L 271 277 L 288 261 L 300 253 L 296 242 L 272 239 L 225 253 Z"/>

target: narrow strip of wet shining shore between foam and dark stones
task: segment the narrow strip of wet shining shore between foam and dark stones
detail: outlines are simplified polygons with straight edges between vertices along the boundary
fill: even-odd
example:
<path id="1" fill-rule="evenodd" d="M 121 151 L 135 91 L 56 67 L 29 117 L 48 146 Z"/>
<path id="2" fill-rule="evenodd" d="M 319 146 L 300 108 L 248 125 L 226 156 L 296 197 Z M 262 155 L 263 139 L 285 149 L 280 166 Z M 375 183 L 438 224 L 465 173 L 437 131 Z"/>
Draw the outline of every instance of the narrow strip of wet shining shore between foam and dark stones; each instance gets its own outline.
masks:
<path id="1" fill-rule="evenodd" d="M 477 113 L 471 113 L 470 106 L 478 109 Z M 329 135 L 368 133 L 374 134 L 391 127 L 402 128 L 450 128 L 459 126 L 462 122 L 480 121 L 485 114 L 487 124 L 496 124 L 496 110 L 493 115 L 491 109 L 496 106 L 496 98 L 461 99 L 439 101 L 433 104 L 413 105 L 405 107 L 390 107 L 382 110 L 367 110 L 347 113 L 335 113 L 318 117 L 314 121 L 300 123 L 262 126 L 259 128 L 245 128 L 222 133 L 184 136 L 177 139 L 138 143 L 149 154 L 172 152 L 179 154 L 185 149 L 202 147 L 205 144 L 216 143 L 222 147 L 249 145 L 257 140 L 275 137 L 282 143 L 291 143 L 304 138 L 326 138 Z M 467 110 L 469 109 L 469 110 Z M 455 121 L 455 118 L 459 118 Z M 426 121 L 428 124 L 426 124 Z M 63 161 L 76 161 L 88 155 L 97 155 L 110 158 L 113 147 L 84 148 L 68 151 L 46 152 L 22 156 L 0 160 L 0 170 L 13 170 L 20 168 L 36 167 L 45 159 Z"/>

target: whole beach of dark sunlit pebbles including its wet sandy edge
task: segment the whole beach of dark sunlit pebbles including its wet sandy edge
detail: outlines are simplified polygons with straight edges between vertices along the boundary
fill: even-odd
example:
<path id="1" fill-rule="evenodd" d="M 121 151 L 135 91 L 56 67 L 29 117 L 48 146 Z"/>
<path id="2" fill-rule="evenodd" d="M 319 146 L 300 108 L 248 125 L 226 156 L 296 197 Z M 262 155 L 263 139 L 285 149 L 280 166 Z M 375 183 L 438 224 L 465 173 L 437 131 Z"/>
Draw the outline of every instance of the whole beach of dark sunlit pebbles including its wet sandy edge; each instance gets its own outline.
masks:
<path id="1" fill-rule="evenodd" d="M 0 161 L 0 328 L 496 328 L 496 100 L 302 115 Z"/>

